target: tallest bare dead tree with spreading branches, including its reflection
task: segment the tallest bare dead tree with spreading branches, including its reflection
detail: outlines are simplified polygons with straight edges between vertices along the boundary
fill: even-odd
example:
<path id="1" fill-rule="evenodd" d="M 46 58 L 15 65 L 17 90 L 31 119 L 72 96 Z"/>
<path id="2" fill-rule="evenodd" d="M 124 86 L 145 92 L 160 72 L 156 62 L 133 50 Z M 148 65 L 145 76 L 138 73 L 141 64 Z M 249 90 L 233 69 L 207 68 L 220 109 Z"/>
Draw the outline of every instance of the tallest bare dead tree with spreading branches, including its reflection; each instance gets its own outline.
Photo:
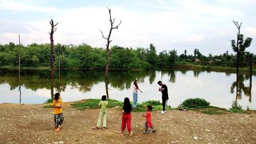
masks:
<path id="1" fill-rule="evenodd" d="M 108 9 L 108 7 L 107 7 Z M 116 26 L 114 26 L 114 22 L 116 20 L 116 18 L 113 18 L 112 19 L 112 16 L 111 16 L 111 9 L 108 9 L 108 12 L 110 14 L 110 32 L 108 33 L 108 37 L 105 37 L 104 34 L 101 32 L 102 34 L 102 38 L 103 39 L 106 39 L 107 41 L 107 44 L 106 44 L 106 64 L 105 64 L 105 86 L 106 86 L 106 95 L 107 95 L 107 98 L 109 99 L 109 96 L 108 96 L 108 67 L 109 67 L 109 63 L 110 63 L 110 54 L 112 54 L 112 52 L 114 50 L 116 50 L 117 48 L 121 48 L 121 47 L 117 47 L 117 48 L 114 48 L 112 50 L 110 50 L 110 43 L 112 42 L 112 40 L 110 40 L 110 36 L 112 34 L 112 30 L 113 29 L 118 29 L 118 26 L 121 24 L 121 20 L 119 22 L 119 24 L 117 24 Z"/>

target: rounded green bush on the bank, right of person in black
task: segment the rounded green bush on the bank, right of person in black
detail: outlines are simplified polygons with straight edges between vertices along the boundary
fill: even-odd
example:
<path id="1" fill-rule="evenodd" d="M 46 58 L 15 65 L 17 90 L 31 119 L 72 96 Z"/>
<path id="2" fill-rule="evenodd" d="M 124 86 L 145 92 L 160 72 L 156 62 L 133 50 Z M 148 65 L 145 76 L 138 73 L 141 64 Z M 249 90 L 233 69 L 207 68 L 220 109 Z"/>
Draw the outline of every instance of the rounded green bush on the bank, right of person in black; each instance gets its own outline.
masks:
<path id="1" fill-rule="evenodd" d="M 190 98 L 184 100 L 179 107 L 186 107 L 186 108 L 207 108 L 209 107 L 210 103 L 205 101 L 205 99 L 200 98 Z"/>

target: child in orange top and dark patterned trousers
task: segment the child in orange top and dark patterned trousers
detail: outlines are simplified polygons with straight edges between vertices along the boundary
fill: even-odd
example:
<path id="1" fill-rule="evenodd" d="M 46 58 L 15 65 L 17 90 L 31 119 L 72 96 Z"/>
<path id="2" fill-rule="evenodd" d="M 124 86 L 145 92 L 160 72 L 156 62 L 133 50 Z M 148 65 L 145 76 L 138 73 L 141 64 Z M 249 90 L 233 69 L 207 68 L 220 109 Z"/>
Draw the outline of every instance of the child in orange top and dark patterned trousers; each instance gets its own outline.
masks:
<path id="1" fill-rule="evenodd" d="M 54 95 L 54 99 L 53 99 L 55 132 L 60 132 L 61 124 L 64 120 L 61 107 L 62 107 L 62 99 L 60 98 L 60 93 L 57 92 Z"/>

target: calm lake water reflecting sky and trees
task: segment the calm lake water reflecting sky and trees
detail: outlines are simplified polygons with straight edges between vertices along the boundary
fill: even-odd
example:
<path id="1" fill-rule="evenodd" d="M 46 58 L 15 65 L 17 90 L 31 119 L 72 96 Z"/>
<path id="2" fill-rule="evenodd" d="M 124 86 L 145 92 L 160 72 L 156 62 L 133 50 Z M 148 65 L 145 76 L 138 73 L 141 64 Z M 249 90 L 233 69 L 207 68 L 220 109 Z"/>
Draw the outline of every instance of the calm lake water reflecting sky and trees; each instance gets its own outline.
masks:
<path id="1" fill-rule="evenodd" d="M 49 71 L 18 71 L 0 69 L 0 103 L 44 103 L 51 98 Z M 161 100 L 158 81 L 169 89 L 168 105 L 177 107 L 188 98 L 203 98 L 217 107 L 230 108 L 236 99 L 234 73 L 172 69 L 169 71 L 110 71 L 109 94 L 111 99 L 132 100 L 131 84 L 139 80 L 139 102 Z M 19 84 L 20 83 L 20 84 Z M 21 96 L 19 92 L 21 86 Z M 234 85 L 234 86 L 232 86 Z M 251 92 L 249 76 L 240 75 L 238 103 L 243 109 L 256 109 L 256 76 L 253 75 Z M 54 76 L 54 93 L 61 92 L 62 101 L 101 98 L 106 94 L 104 71 L 61 71 Z M 234 90 L 234 91 L 233 91 Z"/>

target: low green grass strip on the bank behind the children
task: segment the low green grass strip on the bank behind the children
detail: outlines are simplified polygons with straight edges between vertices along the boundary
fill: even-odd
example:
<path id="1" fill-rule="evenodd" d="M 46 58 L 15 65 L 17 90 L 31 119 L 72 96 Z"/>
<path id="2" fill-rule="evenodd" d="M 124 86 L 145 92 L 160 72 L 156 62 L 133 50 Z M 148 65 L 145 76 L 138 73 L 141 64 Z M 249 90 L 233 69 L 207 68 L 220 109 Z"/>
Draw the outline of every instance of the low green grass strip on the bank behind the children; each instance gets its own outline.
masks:
<path id="1" fill-rule="evenodd" d="M 85 101 L 76 101 L 72 104 L 72 107 L 85 110 L 85 109 L 96 109 L 98 107 L 98 103 L 101 99 L 87 99 Z M 114 99 L 107 99 L 108 101 L 108 108 L 110 107 L 119 107 L 120 109 L 123 107 L 122 101 L 117 101 Z M 160 110 L 163 108 L 160 101 L 145 101 L 143 103 L 137 103 L 137 109 L 133 109 L 133 112 L 144 112 L 146 111 L 146 105 L 153 105 L 153 111 Z M 167 107 L 167 109 L 171 109 L 171 107 Z"/>

